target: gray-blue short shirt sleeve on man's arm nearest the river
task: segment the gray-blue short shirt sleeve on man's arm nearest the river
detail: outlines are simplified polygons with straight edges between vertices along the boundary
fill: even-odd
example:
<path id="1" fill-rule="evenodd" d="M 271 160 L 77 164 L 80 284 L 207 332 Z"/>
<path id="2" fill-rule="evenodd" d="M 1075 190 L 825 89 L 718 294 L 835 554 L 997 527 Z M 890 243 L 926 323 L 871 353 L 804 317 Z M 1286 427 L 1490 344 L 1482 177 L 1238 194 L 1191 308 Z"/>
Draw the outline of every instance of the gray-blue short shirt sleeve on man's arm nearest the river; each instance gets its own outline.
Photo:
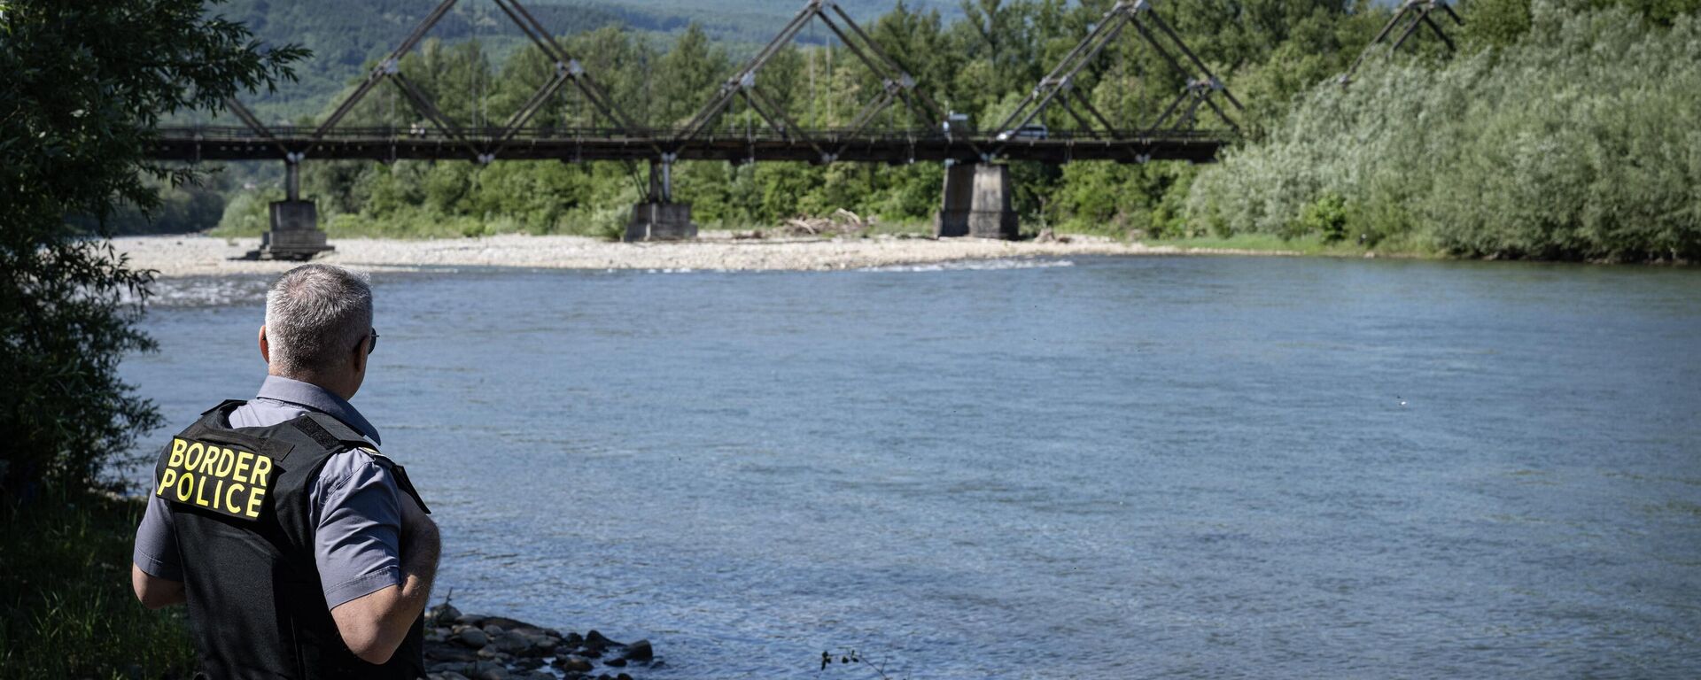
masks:
<path id="1" fill-rule="evenodd" d="M 332 456 L 313 484 L 313 561 L 325 605 L 401 585 L 396 478 L 364 450 Z"/>

